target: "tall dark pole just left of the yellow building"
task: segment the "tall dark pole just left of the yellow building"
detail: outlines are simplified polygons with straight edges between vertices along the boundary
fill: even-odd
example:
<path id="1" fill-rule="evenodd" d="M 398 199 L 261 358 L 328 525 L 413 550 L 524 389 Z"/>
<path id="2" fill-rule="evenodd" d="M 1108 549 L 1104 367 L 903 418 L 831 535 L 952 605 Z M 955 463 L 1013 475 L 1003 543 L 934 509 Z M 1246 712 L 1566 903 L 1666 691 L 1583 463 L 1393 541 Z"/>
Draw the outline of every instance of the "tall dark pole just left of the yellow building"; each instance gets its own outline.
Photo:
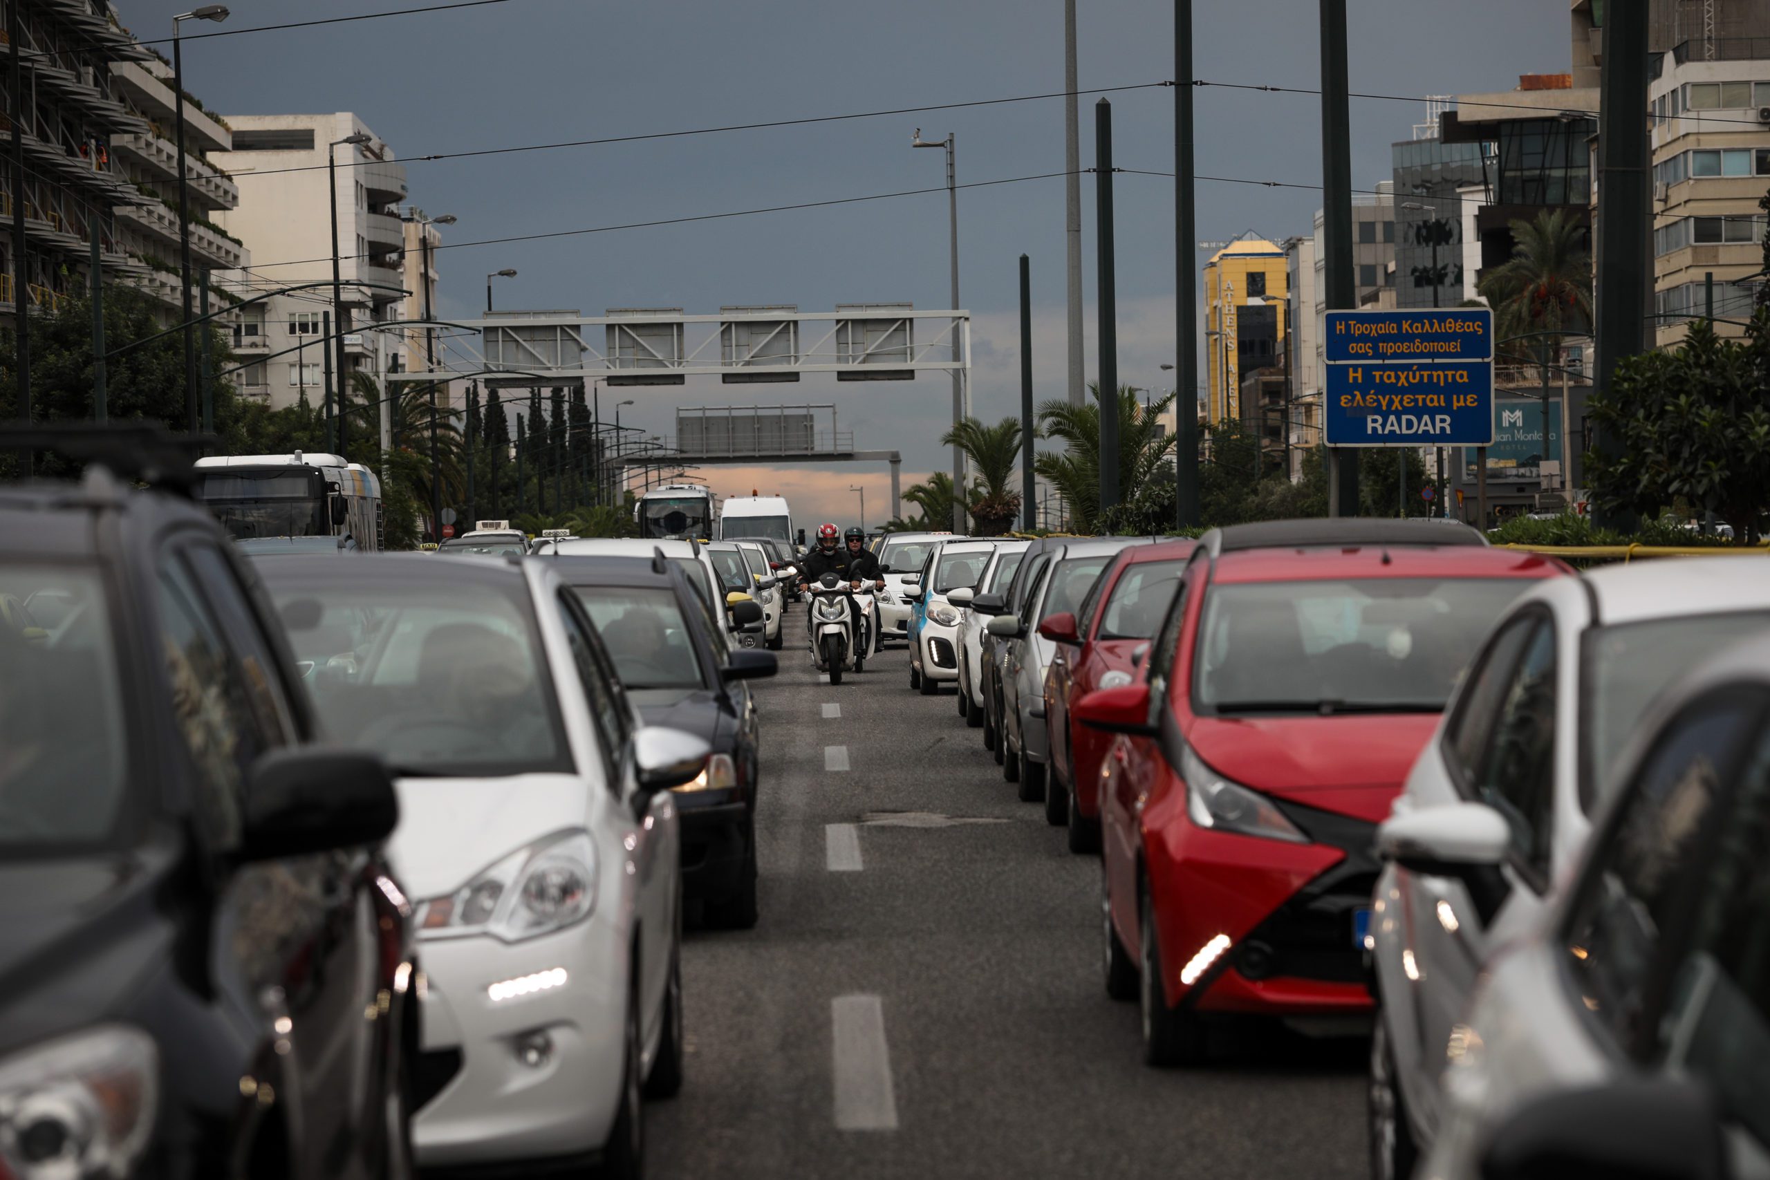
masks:
<path id="1" fill-rule="evenodd" d="M 1198 511 L 1195 214 L 1193 0 L 1174 0 L 1174 340 L 1177 347 L 1174 356 L 1174 524 L 1181 529 L 1202 524 Z"/>

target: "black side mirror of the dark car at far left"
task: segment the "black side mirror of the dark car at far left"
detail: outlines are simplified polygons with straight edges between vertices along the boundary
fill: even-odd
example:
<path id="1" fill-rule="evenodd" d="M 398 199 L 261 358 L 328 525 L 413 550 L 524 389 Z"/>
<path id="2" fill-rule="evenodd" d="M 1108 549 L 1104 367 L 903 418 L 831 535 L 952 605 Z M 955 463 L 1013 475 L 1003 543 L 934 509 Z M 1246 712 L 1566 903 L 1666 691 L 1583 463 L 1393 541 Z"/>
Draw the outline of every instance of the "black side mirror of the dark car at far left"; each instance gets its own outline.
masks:
<path id="1" fill-rule="evenodd" d="M 271 750 L 251 764 L 248 782 L 241 860 L 375 844 L 400 823 L 393 777 L 361 750 Z"/>

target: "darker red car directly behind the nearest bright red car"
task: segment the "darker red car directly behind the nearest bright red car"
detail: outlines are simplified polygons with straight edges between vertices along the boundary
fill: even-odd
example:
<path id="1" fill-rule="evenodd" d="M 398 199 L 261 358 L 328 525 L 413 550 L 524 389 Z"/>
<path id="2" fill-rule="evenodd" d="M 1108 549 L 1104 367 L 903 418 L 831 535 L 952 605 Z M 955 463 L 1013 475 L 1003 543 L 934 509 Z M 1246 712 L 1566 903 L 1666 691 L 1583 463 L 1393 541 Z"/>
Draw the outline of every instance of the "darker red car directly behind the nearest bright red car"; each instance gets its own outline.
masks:
<path id="1" fill-rule="evenodd" d="M 1136 679 L 1136 660 L 1168 614 L 1174 587 L 1198 541 L 1136 545 L 1113 557 L 1076 614 L 1053 614 L 1039 633 L 1058 644 L 1044 679 L 1044 727 L 1050 773 L 1044 817 L 1069 828 L 1069 851 L 1092 853 L 1101 842 L 1101 759 L 1112 734 L 1081 725 L 1073 704 L 1096 688 Z"/>

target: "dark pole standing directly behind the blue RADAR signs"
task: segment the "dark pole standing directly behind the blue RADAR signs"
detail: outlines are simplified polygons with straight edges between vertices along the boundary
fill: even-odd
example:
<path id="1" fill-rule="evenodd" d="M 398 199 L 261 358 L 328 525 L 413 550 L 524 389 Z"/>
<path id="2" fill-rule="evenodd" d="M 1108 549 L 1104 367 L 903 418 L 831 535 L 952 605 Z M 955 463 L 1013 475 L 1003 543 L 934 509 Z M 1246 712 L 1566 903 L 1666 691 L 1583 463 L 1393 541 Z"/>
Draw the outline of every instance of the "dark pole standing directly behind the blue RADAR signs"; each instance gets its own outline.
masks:
<path id="1" fill-rule="evenodd" d="M 1322 255 L 1326 310 L 1358 306 L 1352 272 L 1352 133 L 1347 111 L 1345 0 L 1320 0 L 1322 46 Z M 1175 80 L 1179 81 L 1179 80 Z M 1643 99 L 1644 101 L 1644 99 Z M 1643 124 L 1644 126 L 1644 124 Z M 1322 407 L 1333 414 L 1331 405 Z M 1328 451 L 1328 515 L 1358 515 L 1358 451 Z"/>

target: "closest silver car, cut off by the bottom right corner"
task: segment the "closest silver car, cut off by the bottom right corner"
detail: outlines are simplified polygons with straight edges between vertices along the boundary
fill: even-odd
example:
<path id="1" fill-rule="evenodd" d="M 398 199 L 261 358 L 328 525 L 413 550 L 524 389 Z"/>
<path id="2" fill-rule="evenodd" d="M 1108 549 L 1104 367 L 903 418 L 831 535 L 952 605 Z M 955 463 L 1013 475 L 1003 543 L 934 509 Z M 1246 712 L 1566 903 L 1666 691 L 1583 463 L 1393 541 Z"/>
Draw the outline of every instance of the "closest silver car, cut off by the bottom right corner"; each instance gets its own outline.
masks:
<path id="1" fill-rule="evenodd" d="M 1751 630 L 1634 727 L 1566 888 L 1483 966 L 1416 1175 L 1770 1176 L 1770 640 Z M 1404 862 L 1478 874 L 1512 842 L 1494 812 L 1405 819 Z"/>

